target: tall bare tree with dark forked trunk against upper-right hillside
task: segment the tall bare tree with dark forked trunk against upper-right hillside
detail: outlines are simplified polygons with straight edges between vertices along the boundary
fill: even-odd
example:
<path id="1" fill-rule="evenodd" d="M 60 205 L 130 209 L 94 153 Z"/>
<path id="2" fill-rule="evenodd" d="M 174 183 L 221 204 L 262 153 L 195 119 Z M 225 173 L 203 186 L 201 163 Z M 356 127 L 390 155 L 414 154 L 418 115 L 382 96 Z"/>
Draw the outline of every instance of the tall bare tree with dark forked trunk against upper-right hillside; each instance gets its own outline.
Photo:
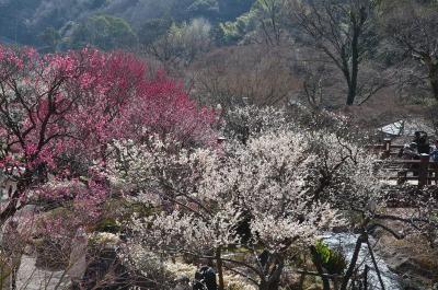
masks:
<path id="1" fill-rule="evenodd" d="M 358 96 L 367 101 L 384 86 L 373 83 L 365 89 L 359 83 L 359 72 L 376 40 L 373 9 L 373 0 L 316 0 L 307 4 L 291 0 L 290 15 L 301 40 L 322 51 L 343 73 L 347 84 L 346 105 L 355 104 Z"/>

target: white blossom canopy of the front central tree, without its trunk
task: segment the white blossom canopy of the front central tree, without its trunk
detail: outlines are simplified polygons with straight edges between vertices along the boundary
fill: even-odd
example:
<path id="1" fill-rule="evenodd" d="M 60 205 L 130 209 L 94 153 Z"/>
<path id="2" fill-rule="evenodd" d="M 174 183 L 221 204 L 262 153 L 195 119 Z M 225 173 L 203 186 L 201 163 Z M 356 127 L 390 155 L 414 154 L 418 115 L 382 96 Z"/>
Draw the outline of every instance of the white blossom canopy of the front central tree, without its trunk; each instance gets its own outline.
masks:
<path id="1" fill-rule="evenodd" d="M 246 146 L 226 144 L 222 153 L 175 151 L 177 146 L 162 141 L 119 143 L 122 158 L 114 175 L 127 188 L 136 188 L 139 200 L 163 209 L 132 225 L 153 245 L 194 251 L 239 244 L 235 224 L 242 213 L 250 213 L 254 242 L 280 251 L 291 243 L 309 243 L 321 230 L 337 224 L 327 200 L 315 200 L 320 172 L 333 175 L 335 184 L 327 190 L 346 188 L 354 175 L 368 174 L 367 166 L 336 172 L 337 164 L 343 171 L 357 166 L 346 162 L 357 156 L 350 152 L 357 149 L 344 147 L 334 136 L 323 141 L 325 150 L 319 151 L 314 139 L 281 130 L 252 138 Z"/>

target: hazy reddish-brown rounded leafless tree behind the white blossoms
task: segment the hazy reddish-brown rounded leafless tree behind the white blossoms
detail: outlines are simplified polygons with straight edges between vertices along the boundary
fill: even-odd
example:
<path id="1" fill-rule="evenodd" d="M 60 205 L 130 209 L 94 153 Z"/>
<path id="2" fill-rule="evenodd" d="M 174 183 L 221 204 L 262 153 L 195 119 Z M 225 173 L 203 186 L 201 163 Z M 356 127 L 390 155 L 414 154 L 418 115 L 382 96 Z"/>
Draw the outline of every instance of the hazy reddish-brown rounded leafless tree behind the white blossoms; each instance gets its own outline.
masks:
<path id="1" fill-rule="evenodd" d="M 284 104 L 299 81 L 281 47 L 261 45 L 216 49 L 194 63 L 194 94 L 223 108 Z"/>

